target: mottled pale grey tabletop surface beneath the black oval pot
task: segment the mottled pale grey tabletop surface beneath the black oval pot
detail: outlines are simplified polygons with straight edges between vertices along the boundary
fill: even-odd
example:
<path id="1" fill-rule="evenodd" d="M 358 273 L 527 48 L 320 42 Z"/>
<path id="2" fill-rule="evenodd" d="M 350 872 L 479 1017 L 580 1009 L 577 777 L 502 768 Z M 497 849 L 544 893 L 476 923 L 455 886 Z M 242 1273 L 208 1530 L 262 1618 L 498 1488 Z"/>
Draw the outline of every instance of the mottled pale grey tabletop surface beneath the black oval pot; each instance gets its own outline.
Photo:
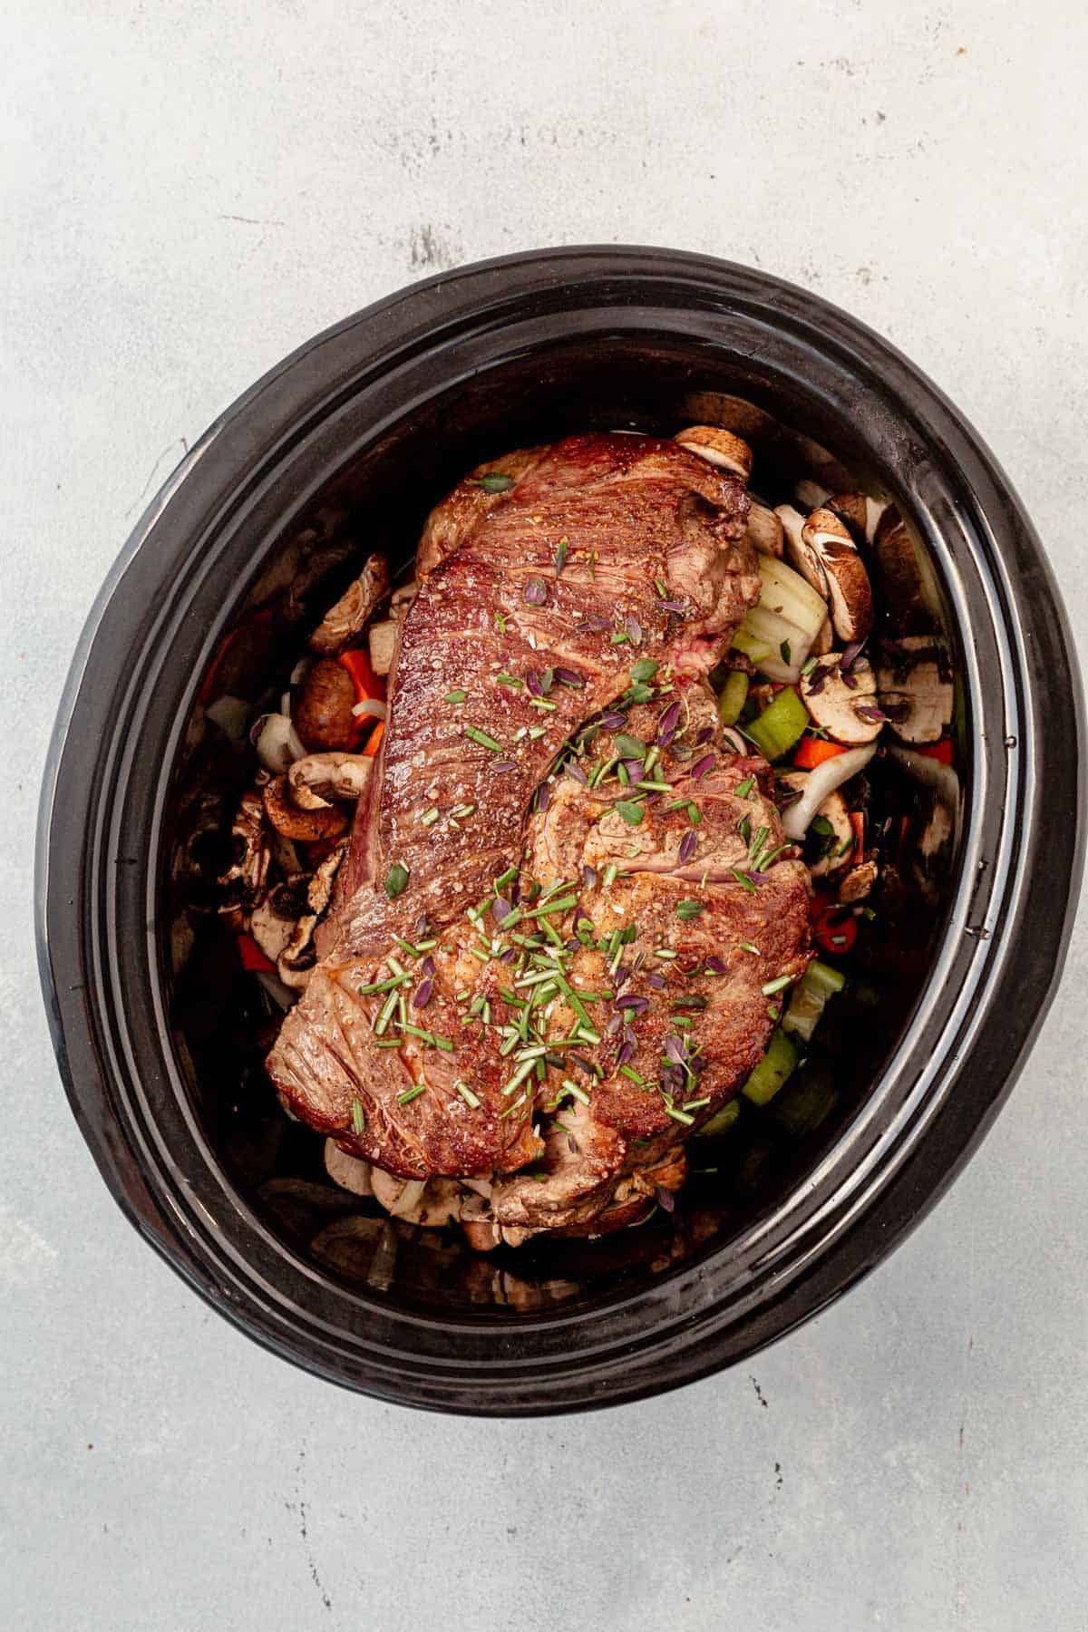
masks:
<path id="1" fill-rule="evenodd" d="M 1083 927 L 863 1288 L 522 1425 L 338 1394 L 191 1297 L 91 1167 L 29 945 L 55 700 L 145 498 L 307 335 L 458 261 L 672 243 L 847 305 L 998 450 L 1083 630 L 1083 8 L 8 0 L 0 51 L 0 1625 L 1088 1625 Z"/>

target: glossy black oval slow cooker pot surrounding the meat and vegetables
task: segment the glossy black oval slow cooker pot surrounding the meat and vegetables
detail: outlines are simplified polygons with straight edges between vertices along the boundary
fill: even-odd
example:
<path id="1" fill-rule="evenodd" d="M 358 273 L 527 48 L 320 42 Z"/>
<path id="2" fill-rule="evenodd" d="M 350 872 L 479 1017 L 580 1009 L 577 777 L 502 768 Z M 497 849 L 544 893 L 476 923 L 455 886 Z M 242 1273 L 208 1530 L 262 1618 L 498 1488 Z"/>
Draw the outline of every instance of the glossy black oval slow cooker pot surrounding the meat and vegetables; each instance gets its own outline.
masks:
<path id="1" fill-rule="evenodd" d="M 819 1126 L 789 1100 L 745 1115 L 695 1160 L 706 1172 L 672 1217 L 480 1257 L 334 1190 L 321 1139 L 279 1110 L 261 1071 L 271 1009 L 210 911 L 253 761 L 206 708 L 274 697 L 351 576 L 346 545 L 408 570 L 429 506 L 476 460 L 579 429 L 669 434 L 706 418 L 706 392 L 801 428 L 909 516 L 917 570 L 881 576 L 882 632 L 940 648 L 956 765 L 920 782 L 884 759 L 873 777 L 878 814 L 912 818 L 907 888 L 879 902 L 820 1028 Z M 785 494 L 811 459 L 788 434 L 759 444 L 754 488 Z M 254 387 L 171 478 L 91 617 L 39 873 L 69 1092 L 152 1242 L 245 1330 L 334 1381 L 480 1412 L 667 1387 L 842 1291 L 980 1136 L 1060 966 L 1078 775 L 1077 676 L 1039 547 L 904 359 L 801 290 L 692 256 L 467 269 Z M 1028 894 L 1044 777 L 1068 819 Z"/>

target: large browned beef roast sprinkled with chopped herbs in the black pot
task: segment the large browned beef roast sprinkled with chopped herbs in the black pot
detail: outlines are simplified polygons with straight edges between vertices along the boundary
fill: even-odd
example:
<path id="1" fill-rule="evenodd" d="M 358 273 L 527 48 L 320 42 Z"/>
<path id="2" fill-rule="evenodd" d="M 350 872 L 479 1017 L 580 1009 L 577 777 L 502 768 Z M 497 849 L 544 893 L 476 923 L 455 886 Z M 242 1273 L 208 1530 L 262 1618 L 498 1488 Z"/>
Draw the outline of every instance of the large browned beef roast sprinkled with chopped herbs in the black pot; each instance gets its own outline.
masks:
<path id="1" fill-rule="evenodd" d="M 745 514 L 675 442 L 584 436 L 480 467 L 424 530 L 375 792 L 268 1069 L 391 1173 L 494 1173 L 511 1229 L 679 1183 L 765 1048 L 762 984 L 804 968 L 807 875 L 742 871 L 737 823 L 768 857 L 778 814 L 700 679 L 759 594 Z"/>

